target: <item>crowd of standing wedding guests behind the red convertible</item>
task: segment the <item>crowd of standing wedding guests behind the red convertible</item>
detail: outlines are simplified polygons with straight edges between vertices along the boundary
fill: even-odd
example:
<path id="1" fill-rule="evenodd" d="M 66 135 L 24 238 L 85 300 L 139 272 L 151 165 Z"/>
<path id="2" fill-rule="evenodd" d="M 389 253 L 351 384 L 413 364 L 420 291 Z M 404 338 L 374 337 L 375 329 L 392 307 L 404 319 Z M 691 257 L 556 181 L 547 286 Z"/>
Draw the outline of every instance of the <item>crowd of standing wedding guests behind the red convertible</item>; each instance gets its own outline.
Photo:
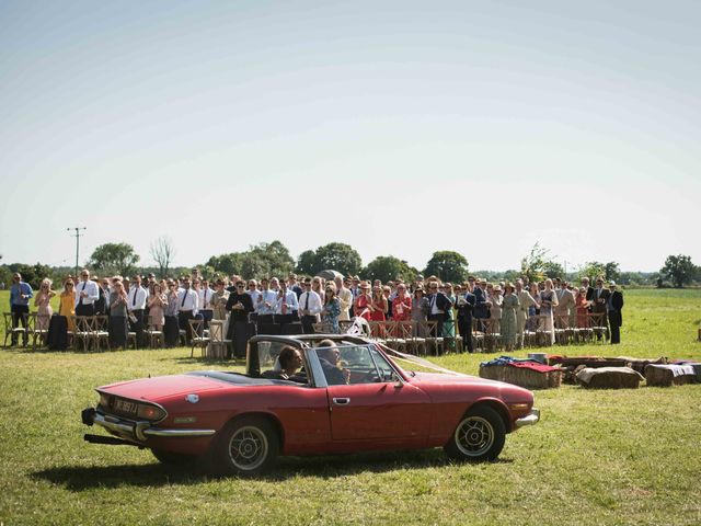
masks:
<path id="1" fill-rule="evenodd" d="M 210 284 L 197 268 L 181 278 L 160 281 L 153 274 L 130 279 L 91 278 L 83 270 L 76 279 L 68 276 L 62 287 L 57 315 L 66 318 L 67 331 L 74 330 L 74 316 L 103 315 L 110 320 L 113 346 L 126 347 L 129 331 L 136 334 L 138 345 L 146 345 L 147 329 L 163 331 L 165 345 L 174 346 L 182 331 L 188 342 L 192 339 L 189 320 L 202 320 L 204 328 L 212 320 L 226 320 L 228 338 L 234 341 L 238 355 L 248 338 L 266 324 L 298 323 L 301 332 L 312 333 L 317 323 L 324 322 L 330 332 L 337 333 L 340 321 L 354 317 L 368 321 L 435 321 L 437 336 L 450 340 L 460 334 L 466 348 L 473 352 L 473 320 L 490 320 L 505 350 L 513 351 L 524 345 L 525 331 L 535 316 L 542 320 L 542 329 L 554 343 L 560 323 L 586 327 L 594 313 L 608 321 L 610 341 L 619 343 L 623 308 L 623 296 L 613 282 L 605 286 L 604 279 L 597 278 L 590 286 L 586 277 L 581 287 L 560 278 L 540 283 L 520 278 L 512 284 L 489 283 L 475 276 L 453 285 L 421 275 L 413 283 L 397 279 L 384 284 L 341 275 L 329 281 L 320 276 L 298 279 L 296 274 L 286 279 L 260 281 L 231 275 Z M 47 328 L 53 315 L 50 299 L 56 294 L 51 282 L 44 279 L 34 295 L 15 274 L 10 294 L 13 324 L 23 322 L 34 298 L 37 324 Z"/>

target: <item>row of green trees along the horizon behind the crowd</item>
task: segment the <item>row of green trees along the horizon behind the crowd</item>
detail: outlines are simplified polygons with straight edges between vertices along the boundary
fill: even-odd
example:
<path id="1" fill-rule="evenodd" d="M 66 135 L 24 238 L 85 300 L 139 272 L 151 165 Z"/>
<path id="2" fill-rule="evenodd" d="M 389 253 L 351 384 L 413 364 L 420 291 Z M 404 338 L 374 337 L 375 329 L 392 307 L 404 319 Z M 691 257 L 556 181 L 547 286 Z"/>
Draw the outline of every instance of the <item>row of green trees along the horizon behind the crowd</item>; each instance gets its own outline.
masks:
<path id="1" fill-rule="evenodd" d="M 134 247 L 125 242 L 104 243 L 97 247 L 85 262 L 85 266 L 97 275 L 133 275 L 153 272 L 160 277 L 179 276 L 188 274 L 191 267 L 173 266 L 176 251 L 168 237 L 157 239 L 150 247 L 150 255 L 156 265 L 139 265 L 140 256 Z M 0 255 L 0 259 L 2 256 Z M 287 276 L 290 272 L 313 276 L 324 270 L 338 271 L 344 275 L 359 275 L 366 279 L 380 279 L 383 283 L 402 278 L 413 282 L 417 275 L 435 275 L 444 282 L 461 283 L 467 279 L 469 263 L 464 255 L 449 250 L 434 252 L 424 268 L 411 266 L 405 260 L 394 255 L 380 255 L 367 265 L 363 264 L 360 254 L 350 245 L 332 242 L 306 250 L 297 259 L 294 259 L 289 250 L 280 241 L 269 243 L 262 242 L 249 247 L 242 252 L 229 252 L 212 255 L 206 262 L 197 266 L 207 277 L 230 276 L 238 274 L 244 277 Z M 0 265 L 0 284 L 9 285 L 14 272 L 20 272 L 24 279 L 38 286 L 44 277 L 62 279 L 72 273 L 70 267 L 51 267 L 42 263 L 34 265 L 13 263 Z M 550 251 L 536 243 L 528 254 L 520 261 L 520 267 L 505 272 L 480 271 L 473 272 L 481 277 L 491 281 L 515 281 L 520 276 L 527 276 L 530 281 L 541 281 L 545 277 L 562 277 L 573 281 L 583 276 L 594 279 L 604 276 L 622 285 L 641 286 L 671 286 L 681 288 L 701 278 L 701 270 L 694 265 L 688 255 L 669 255 L 664 266 L 657 273 L 621 272 L 620 265 L 610 261 L 608 263 L 590 261 L 585 262 L 574 270 L 566 270 L 555 261 Z"/>

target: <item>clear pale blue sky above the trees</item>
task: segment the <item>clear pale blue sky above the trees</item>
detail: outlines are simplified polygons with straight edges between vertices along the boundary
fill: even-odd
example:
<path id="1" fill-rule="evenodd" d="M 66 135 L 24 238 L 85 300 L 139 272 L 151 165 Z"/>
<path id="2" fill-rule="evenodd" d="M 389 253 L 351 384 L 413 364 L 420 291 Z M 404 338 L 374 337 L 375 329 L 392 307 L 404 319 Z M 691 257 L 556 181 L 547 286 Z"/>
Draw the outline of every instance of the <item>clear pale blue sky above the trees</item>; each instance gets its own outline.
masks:
<path id="1" fill-rule="evenodd" d="M 701 264 L 701 2 L 0 2 L 0 253 Z"/>

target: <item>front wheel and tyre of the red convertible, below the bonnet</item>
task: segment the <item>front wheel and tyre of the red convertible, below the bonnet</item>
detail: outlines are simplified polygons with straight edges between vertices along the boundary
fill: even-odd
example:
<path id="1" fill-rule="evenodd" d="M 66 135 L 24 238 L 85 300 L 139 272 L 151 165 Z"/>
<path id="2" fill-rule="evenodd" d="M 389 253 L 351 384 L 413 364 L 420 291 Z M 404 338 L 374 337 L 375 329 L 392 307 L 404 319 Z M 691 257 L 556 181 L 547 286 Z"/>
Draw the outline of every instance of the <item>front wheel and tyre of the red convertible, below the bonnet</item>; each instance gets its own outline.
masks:
<path id="1" fill-rule="evenodd" d="M 492 408 L 479 405 L 468 411 L 444 446 L 451 460 L 482 462 L 499 456 L 506 441 L 506 427 Z"/>

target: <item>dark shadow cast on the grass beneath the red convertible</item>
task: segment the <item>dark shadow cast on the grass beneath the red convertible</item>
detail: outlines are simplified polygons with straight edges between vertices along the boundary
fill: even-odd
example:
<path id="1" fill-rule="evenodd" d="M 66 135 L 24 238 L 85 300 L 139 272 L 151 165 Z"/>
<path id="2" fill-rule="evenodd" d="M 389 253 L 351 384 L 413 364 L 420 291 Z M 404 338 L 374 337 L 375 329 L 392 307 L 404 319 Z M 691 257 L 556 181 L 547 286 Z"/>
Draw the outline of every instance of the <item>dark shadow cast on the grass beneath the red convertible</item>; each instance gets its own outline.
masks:
<path id="1" fill-rule="evenodd" d="M 512 459 L 497 459 L 492 464 L 510 464 Z M 280 482 L 296 477 L 335 478 L 365 472 L 384 473 L 398 470 L 451 469 L 451 464 L 440 449 L 424 451 L 364 453 L 320 457 L 284 457 L 260 481 Z M 37 471 L 33 478 L 59 484 L 69 491 L 124 485 L 159 488 L 172 484 L 198 484 L 219 477 L 206 474 L 202 468 L 149 465 L 122 465 L 99 467 L 65 467 Z"/>

